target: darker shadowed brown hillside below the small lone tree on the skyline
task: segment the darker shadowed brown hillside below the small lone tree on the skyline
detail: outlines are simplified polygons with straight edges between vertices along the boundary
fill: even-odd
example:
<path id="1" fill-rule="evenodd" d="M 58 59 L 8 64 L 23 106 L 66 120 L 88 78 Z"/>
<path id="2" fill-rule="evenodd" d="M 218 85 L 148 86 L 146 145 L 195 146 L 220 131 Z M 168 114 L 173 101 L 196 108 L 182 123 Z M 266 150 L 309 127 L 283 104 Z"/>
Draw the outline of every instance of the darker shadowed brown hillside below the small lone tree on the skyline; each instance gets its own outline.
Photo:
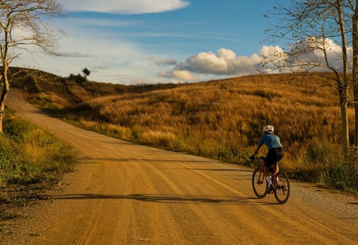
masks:
<path id="1" fill-rule="evenodd" d="M 153 84 L 153 85 L 132 85 L 97 83 L 95 81 L 84 81 L 78 74 L 70 74 L 69 77 L 60 77 L 48 72 L 34 69 L 12 67 L 9 78 L 14 75 L 12 86 L 23 89 L 39 103 L 54 106 L 53 108 L 71 108 L 89 99 L 107 96 L 120 95 L 123 93 L 144 93 L 158 89 L 170 89 L 180 85 L 175 84 Z M 45 106 L 46 107 L 46 106 Z"/>

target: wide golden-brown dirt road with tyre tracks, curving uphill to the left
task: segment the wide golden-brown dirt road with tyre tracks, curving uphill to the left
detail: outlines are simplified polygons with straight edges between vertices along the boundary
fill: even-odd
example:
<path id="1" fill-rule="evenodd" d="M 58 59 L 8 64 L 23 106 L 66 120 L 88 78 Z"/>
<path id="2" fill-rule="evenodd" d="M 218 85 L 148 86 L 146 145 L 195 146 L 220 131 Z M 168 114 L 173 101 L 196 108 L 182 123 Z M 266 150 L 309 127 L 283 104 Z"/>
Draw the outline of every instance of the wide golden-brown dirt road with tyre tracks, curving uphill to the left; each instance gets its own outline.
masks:
<path id="1" fill-rule="evenodd" d="M 286 205 L 256 199 L 252 170 L 134 145 L 42 114 L 19 91 L 17 114 L 48 128 L 83 163 L 29 209 L 3 243 L 237 244 L 358 240 L 358 200 L 293 182 Z"/>

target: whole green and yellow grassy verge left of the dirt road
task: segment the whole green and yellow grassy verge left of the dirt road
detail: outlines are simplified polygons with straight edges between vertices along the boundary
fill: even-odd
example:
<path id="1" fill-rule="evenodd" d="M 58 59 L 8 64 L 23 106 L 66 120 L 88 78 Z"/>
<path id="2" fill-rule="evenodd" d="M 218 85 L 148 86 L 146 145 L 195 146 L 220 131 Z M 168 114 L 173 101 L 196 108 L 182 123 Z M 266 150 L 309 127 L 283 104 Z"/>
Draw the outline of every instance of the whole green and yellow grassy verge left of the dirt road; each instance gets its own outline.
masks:
<path id="1" fill-rule="evenodd" d="M 49 132 L 7 110 L 0 134 L 0 230 L 73 169 L 76 154 Z"/>

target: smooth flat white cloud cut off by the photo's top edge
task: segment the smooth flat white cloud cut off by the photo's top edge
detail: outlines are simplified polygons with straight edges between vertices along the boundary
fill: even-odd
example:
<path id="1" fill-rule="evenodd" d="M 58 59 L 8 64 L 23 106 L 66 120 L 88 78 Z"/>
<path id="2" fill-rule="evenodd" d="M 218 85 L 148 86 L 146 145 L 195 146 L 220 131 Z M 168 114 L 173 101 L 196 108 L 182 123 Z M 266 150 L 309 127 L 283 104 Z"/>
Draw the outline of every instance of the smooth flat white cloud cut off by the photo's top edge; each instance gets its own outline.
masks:
<path id="1" fill-rule="evenodd" d="M 189 6 L 184 0 L 58 0 L 70 11 L 118 14 L 146 14 L 172 11 Z"/>

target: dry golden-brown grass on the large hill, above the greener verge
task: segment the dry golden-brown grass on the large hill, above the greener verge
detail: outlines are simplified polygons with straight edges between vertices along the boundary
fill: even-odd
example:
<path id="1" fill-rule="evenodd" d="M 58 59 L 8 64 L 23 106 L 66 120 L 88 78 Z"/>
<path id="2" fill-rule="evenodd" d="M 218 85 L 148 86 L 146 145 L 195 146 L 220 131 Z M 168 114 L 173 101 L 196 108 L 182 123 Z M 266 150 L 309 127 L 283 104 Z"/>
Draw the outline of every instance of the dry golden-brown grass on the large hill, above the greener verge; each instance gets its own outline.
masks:
<path id="1" fill-rule="evenodd" d="M 339 142 L 340 111 L 334 90 L 312 94 L 330 76 L 310 74 L 304 86 L 287 86 L 289 75 L 246 76 L 148 93 L 94 98 L 77 111 L 86 119 L 141 132 L 223 144 L 233 152 L 253 147 L 271 124 L 292 156 L 311 141 Z M 351 112 L 352 114 L 352 112 Z M 192 147 L 201 147 L 193 145 Z M 210 154 L 211 155 L 211 154 Z"/>

